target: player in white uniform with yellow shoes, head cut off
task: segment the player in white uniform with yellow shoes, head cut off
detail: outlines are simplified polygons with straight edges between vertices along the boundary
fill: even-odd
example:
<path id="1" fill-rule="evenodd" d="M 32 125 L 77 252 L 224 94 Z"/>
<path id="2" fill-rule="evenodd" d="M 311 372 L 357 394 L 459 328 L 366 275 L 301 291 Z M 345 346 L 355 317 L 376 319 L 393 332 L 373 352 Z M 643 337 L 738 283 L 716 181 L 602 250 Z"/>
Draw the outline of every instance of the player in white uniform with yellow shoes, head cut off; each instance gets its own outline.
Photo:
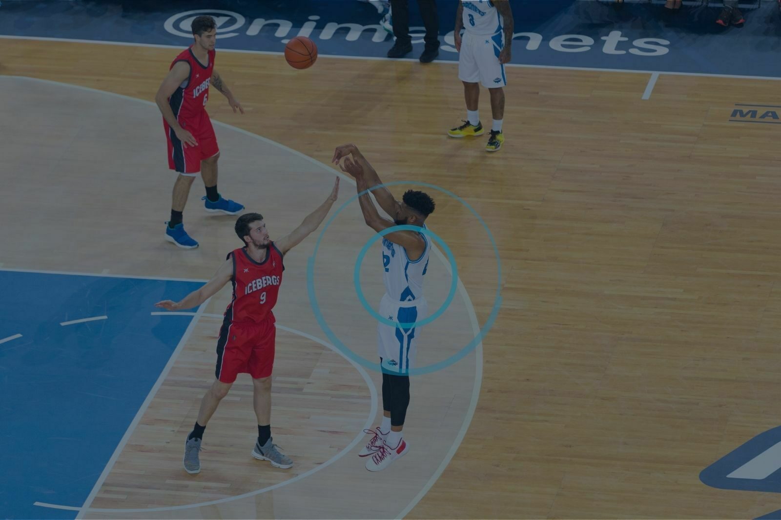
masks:
<path id="1" fill-rule="evenodd" d="M 464 29 L 464 36 L 461 30 Z M 505 117 L 505 63 L 512 59 L 512 10 L 508 0 L 462 0 L 455 15 L 455 48 L 458 79 L 464 82 L 466 120 L 452 128 L 450 137 L 483 135 L 477 105 L 480 83 L 490 92 L 494 116 L 486 151 L 498 151 L 505 142 L 501 124 Z"/>

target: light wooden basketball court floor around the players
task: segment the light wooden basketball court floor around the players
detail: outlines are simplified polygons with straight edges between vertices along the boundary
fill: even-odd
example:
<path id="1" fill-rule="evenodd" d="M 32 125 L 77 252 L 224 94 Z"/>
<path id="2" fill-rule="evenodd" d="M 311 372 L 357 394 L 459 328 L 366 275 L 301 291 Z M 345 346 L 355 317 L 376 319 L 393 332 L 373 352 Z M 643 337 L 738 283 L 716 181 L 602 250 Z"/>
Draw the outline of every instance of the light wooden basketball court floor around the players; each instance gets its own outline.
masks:
<path id="1" fill-rule="evenodd" d="M 201 247 L 162 240 L 174 176 L 149 102 L 175 54 L 2 41 L 0 268 L 207 280 L 237 247 L 233 219 L 202 211 L 200 180 L 184 218 Z M 201 309 L 91 500 L 66 504 L 81 517 L 756 518 L 781 509 L 777 493 L 698 478 L 781 417 L 779 127 L 729 122 L 736 103 L 777 104 L 777 81 L 663 74 L 644 100 L 643 73 L 511 68 L 507 141 L 487 154 L 483 137 L 445 136 L 464 117 L 455 63 L 323 57 L 300 72 L 280 55 L 218 52 L 217 68 L 246 109 L 235 115 L 212 92 L 209 113 L 224 123 L 219 190 L 262 212 L 272 237 L 326 197 L 333 148 L 353 142 L 384 181 L 458 195 L 497 244 L 501 274 L 480 219 L 431 190 L 430 227 L 455 255 L 464 291 L 430 324 L 426 362 L 486 324 L 497 276 L 501 308 L 475 351 L 413 378 L 413 451 L 369 474 L 355 453 L 378 410 L 379 374 L 324 346 L 306 287 L 321 228 L 288 255 L 276 313 L 297 332 L 278 338 L 272 427 L 296 466 L 249 457 L 251 383 L 239 379 L 209 423 L 201 473 L 180 468 L 211 383 L 225 289 Z M 484 90 L 480 110 L 490 119 Z M 334 208 L 354 194 L 343 180 Z M 373 319 L 351 284 L 371 234 L 357 205 L 326 233 L 316 268 L 323 314 L 371 357 Z M 438 258 L 433 308 L 451 280 Z M 361 275 L 369 301 L 380 294 L 372 267 Z"/>

